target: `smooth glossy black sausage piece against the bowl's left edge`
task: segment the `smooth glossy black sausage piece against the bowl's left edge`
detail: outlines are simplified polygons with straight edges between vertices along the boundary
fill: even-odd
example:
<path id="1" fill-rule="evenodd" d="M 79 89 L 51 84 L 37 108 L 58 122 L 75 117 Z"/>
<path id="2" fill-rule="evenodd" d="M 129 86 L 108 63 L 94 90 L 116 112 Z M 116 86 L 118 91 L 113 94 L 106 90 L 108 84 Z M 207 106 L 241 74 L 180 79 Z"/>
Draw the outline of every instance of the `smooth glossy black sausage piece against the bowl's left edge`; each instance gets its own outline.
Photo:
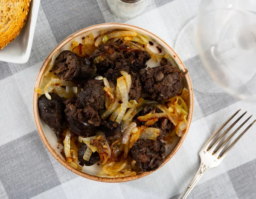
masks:
<path id="1" fill-rule="evenodd" d="M 58 95 L 55 93 L 49 93 L 49 95 L 52 98 L 51 100 L 45 95 L 42 95 L 38 99 L 38 108 L 41 118 L 55 131 L 57 138 L 60 139 L 65 121 L 65 107 L 62 99 Z"/>

